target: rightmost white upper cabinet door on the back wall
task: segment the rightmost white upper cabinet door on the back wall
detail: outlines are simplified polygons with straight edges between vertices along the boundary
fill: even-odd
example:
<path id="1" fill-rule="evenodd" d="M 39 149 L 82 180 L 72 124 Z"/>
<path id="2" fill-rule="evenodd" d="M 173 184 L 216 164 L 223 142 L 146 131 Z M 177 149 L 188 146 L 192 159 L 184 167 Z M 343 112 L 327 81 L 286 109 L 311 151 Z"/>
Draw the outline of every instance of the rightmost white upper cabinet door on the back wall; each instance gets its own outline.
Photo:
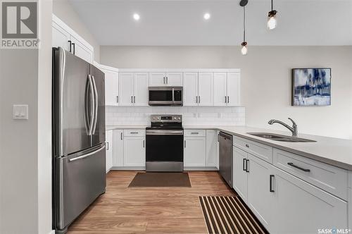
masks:
<path id="1" fill-rule="evenodd" d="M 227 73 L 227 106 L 239 106 L 240 102 L 240 75 Z"/>

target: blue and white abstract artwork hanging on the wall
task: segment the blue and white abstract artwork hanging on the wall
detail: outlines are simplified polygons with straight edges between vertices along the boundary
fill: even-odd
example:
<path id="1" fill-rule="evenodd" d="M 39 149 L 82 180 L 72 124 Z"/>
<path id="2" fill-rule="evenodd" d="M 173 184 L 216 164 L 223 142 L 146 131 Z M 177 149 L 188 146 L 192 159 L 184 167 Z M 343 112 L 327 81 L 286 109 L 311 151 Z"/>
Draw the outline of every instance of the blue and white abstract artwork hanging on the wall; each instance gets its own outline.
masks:
<path id="1" fill-rule="evenodd" d="M 331 104 L 331 69 L 292 69 L 292 89 L 292 106 L 329 106 Z"/>

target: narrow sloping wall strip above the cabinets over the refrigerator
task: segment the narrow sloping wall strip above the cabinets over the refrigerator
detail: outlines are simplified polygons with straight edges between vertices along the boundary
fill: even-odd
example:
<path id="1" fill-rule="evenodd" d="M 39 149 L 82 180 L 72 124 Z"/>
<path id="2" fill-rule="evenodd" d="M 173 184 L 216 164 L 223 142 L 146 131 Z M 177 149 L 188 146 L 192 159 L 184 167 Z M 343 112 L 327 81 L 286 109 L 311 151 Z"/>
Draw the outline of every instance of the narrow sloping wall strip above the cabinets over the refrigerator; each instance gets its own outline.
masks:
<path id="1" fill-rule="evenodd" d="M 53 1 L 53 13 L 63 20 L 65 24 L 71 27 L 78 35 L 83 37 L 89 44 L 94 48 L 94 60 L 99 63 L 100 61 L 100 48 L 98 42 L 89 32 L 88 28 L 82 20 L 80 16 L 77 15 L 72 5 L 68 0 L 54 0 Z"/>

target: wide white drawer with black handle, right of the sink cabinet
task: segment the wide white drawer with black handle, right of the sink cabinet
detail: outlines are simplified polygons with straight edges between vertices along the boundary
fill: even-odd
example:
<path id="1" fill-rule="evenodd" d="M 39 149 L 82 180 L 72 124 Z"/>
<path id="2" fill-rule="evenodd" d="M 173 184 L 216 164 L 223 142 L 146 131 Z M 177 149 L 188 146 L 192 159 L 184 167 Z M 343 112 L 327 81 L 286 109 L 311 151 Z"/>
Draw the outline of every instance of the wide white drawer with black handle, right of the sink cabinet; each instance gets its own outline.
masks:
<path id="1" fill-rule="evenodd" d="M 347 200 L 348 171 L 280 149 L 274 149 L 273 155 L 278 168 Z"/>

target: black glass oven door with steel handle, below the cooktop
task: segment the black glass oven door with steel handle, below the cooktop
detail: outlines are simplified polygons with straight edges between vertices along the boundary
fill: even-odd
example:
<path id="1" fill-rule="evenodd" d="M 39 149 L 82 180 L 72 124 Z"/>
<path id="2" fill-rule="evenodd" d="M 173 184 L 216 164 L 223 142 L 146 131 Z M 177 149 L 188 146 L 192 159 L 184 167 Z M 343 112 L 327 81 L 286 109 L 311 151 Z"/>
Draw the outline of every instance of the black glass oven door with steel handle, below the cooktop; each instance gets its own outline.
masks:
<path id="1" fill-rule="evenodd" d="M 183 130 L 146 130 L 146 161 L 183 162 Z"/>

